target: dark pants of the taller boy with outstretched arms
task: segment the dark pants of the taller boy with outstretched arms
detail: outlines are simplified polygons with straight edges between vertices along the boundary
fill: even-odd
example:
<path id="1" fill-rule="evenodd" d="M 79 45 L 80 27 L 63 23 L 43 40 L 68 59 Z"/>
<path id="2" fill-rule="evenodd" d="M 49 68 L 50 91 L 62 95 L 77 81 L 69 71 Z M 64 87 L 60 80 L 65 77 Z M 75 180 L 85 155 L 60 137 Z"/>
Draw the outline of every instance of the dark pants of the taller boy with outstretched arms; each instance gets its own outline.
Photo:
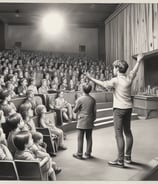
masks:
<path id="1" fill-rule="evenodd" d="M 131 113 L 132 109 L 118 109 L 114 108 L 114 129 L 116 142 L 118 147 L 118 159 L 124 160 L 125 140 L 126 137 L 126 151 L 125 155 L 131 156 L 133 136 L 131 132 Z"/>

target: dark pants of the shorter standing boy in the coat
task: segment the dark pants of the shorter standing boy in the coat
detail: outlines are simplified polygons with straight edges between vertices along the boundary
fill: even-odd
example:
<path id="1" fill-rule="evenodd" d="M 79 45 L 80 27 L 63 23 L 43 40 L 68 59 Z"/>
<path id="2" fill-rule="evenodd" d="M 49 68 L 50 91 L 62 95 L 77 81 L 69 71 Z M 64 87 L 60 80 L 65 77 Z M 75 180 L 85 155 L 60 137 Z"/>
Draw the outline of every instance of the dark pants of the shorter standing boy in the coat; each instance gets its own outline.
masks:
<path id="1" fill-rule="evenodd" d="M 86 134 L 86 140 L 87 140 L 86 154 L 90 155 L 92 152 L 92 129 L 78 129 L 78 151 L 77 151 L 77 154 L 79 156 L 82 156 L 82 154 L 83 154 L 84 134 Z"/>

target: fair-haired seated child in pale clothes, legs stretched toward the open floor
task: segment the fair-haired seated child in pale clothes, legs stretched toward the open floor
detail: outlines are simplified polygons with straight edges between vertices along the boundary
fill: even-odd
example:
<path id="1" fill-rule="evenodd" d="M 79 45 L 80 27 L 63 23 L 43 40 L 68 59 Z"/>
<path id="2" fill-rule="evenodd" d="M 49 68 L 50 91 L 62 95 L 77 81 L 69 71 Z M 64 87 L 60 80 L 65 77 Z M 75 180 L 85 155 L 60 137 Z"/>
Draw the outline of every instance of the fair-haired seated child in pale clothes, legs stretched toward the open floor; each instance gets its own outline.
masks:
<path id="1" fill-rule="evenodd" d="M 42 128 L 48 128 L 51 134 L 56 135 L 59 138 L 59 149 L 66 150 L 64 145 L 64 134 L 63 131 L 55 126 L 55 119 L 51 121 L 46 116 L 47 110 L 44 105 L 38 105 L 36 108 L 36 114 L 39 117 L 39 124 Z"/>

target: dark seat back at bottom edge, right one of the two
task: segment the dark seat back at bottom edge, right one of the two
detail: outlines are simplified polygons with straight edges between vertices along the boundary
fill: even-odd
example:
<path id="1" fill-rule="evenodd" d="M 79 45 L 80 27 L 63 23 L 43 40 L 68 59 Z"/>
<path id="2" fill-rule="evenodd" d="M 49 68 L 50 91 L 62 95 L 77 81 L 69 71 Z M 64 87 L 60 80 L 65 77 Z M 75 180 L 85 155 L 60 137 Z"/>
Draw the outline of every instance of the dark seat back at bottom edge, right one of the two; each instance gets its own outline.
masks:
<path id="1" fill-rule="evenodd" d="M 42 180 L 42 172 L 38 161 L 15 160 L 20 180 Z"/>

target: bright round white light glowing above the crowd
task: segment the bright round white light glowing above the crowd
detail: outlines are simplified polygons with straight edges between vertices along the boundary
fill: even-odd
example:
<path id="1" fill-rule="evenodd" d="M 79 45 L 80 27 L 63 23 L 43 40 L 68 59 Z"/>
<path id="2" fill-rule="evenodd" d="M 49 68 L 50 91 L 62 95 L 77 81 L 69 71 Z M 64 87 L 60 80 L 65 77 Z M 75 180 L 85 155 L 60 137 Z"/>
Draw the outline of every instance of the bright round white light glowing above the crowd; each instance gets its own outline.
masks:
<path id="1" fill-rule="evenodd" d="M 61 14 L 54 12 L 44 16 L 42 20 L 42 25 L 46 33 L 57 35 L 63 31 L 65 22 Z"/>

